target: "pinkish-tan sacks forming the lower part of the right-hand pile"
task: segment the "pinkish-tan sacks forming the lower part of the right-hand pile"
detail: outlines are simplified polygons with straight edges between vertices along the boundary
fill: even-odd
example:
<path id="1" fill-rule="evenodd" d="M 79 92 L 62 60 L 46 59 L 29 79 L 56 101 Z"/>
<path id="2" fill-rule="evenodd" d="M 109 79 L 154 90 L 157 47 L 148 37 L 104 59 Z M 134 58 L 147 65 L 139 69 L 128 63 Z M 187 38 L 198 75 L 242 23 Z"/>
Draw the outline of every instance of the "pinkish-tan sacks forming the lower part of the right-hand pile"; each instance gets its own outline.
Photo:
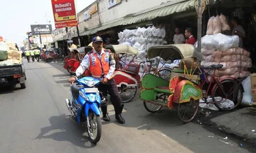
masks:
<path id="1" fill-rule="evenodd" d="M 214 74 L 212 64 L 223 65 L 221 69 L 215 71 L 217 77 L 245 78 L 250 74 L 247 70 L 251 67 L 250 53 L 243 48 L 232 47 L 224 52 L 216 50 L 213 54 L 207 55 L 212 53 L 213 50 L 202 48 L 204 60 L 201 65 L 205 67 L 206 72 L 209 71 L 209 74 Z"/>

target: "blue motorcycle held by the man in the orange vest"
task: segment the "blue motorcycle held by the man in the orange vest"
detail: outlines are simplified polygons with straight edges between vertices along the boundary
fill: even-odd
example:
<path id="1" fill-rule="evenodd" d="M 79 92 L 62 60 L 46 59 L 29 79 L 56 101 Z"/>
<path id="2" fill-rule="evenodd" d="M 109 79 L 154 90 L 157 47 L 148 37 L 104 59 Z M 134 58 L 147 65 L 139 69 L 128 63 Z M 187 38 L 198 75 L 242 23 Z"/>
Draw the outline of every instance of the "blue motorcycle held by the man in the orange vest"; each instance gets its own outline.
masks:
<path id="1" fill-rule="evenodd" d="M 70 87 L 72 103 L 66 99 L 66 105 L 72 118 L 87 126 L 89 140 L 93 143 L 97 143 L 101 137 L 99 107 L 101 103 L 106 102 L 96 88 L 99 84 L 100 81 L 92 77 L 77 79 L 76 83 Z"/>

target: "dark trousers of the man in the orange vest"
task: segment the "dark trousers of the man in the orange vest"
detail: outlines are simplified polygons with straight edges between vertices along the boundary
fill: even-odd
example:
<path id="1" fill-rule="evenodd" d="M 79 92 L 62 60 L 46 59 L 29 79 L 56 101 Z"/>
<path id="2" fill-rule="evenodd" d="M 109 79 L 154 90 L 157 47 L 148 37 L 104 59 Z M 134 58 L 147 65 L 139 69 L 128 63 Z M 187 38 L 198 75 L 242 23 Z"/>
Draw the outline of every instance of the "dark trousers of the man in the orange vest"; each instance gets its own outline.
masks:
<path id="1" fill-rule="evenodd" d="M 99 91 L 103 92 L 103 95 L 106 95 L 106 93 L 108 91 L 108 93 L 110 94 L 111 103 L 115 108 L 115 113 L 121 114 L 122 109 L 123 109 L 122 99 L 120 98 L 119 91 L 117 89 L 115 80 L 110 79 L 108 81 L 108 83 L 106 83 L 105 85 L 100 84 L 98 86 L 98 89 L 99 89 Z M 107 105 L 106 104 L 101 106 L 101 111 L 102 111 L 103 115 L 107 113 Z"/>

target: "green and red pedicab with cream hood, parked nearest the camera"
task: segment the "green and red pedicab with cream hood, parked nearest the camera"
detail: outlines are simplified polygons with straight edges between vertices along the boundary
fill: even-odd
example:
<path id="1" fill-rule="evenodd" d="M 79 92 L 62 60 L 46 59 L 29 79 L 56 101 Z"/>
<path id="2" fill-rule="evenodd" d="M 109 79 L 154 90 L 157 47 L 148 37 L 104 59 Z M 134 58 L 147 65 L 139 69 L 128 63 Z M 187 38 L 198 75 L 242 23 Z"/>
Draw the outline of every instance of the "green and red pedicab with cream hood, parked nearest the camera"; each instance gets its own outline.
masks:
<path id="1" fill-rule="evenodd" d="M 181 63 L 172 70 L 170 80 L 151 73 L 142 77 L 140 99 L 145 109 L 155 113 L 162 107 L 175 108 L 183 123 L 193 120 L 198 112 L 199 100 L 203 97 L 202 90 L 198 86 L 202 74 L 200 69 L 202 54 L 193 45 L 174 44 L 153 46 L 148 49 L 147 57 L 149 59 L 161 57 L 165 61 L 181 60 Z"/>

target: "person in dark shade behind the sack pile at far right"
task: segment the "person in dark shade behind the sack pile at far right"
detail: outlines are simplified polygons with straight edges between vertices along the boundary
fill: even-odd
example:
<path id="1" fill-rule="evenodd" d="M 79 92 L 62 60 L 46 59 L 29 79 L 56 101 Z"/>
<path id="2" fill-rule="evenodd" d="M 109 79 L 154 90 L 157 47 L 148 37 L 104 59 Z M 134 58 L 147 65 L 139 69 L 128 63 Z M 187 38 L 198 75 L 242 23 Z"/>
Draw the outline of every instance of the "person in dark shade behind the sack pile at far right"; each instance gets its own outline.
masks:
<path id="1" fill-rule="evenodd" d="M 239 37 L 239 47 L 242 48 L 243 47 L 243 38 L 245 38 L 245 31 L 242 27 L 242 25 L 240 25 L 240 21 L 239 18 L 237 16 L 233 17 L 231 20 L 231 25 L 233 27 L 232 30 L 232 35 L 238 35 Z"/>

